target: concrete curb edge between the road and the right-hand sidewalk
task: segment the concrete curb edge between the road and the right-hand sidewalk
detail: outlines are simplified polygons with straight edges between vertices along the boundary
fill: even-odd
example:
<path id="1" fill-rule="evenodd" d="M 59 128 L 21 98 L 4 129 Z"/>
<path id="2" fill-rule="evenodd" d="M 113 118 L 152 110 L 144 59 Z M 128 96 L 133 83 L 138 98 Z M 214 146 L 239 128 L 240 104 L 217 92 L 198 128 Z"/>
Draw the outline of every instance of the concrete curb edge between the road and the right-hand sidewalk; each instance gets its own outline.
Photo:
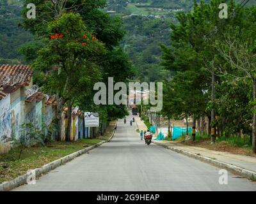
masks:
<path id="1" fill-rule="evenodd" d="M 184 154 L 186 156 L 193 157 L 194 159 L 204 161 L 205 163 L 212 164 L 213 166 L 216 166 L 218 168 L 223 168 L 225 170 L 231 171 L 232 173 L 234 173 L 236 175 L 239 175 L 241 177 L 245 177 L 245 178 L 253 180 L 253 181 L 256 180 L 256 172 L 255 171 L 246 170 L 245 168 L 241 168 L 241 167 L 235 166 L 233 164 L 223 163 L 223 162 L 218 161 L 216 159 L 211 159 L 209 157 L 200 156 L 198 154 L 194 154 L 194 153 L 188 152 L 186 150 L 177 149 L 175 147 L 170 147 L 170 146 L 164 145 L 162 143 L 157 143 L 157 142 L 153 142 L 153 143 L 156 144 L 156 145 L 165 147 L 166 149 L 170 149 L 170 150 L 173 150 L 175 152 Z"/>

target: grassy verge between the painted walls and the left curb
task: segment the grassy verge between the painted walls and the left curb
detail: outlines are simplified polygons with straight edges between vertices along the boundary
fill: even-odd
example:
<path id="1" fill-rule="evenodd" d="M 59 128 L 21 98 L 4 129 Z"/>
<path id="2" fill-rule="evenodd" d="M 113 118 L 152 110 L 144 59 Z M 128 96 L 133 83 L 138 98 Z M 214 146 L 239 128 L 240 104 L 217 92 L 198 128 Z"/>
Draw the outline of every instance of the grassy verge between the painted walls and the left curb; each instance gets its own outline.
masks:
<path id="1" fill-rule="evenodd" d="M 20 159 L 19 148 L 13 148 L 8 154 L 0 154 L 0 184 L 23 175 L 28 170 L 40 168 L 63 156 L 108 140 L 112 135 L 115 122 L 111 122 L 104 136 L 97 139 L 81 139 L 77 142 L 52 142 L 46 147 L 30 147 L 25 149 Z"/>

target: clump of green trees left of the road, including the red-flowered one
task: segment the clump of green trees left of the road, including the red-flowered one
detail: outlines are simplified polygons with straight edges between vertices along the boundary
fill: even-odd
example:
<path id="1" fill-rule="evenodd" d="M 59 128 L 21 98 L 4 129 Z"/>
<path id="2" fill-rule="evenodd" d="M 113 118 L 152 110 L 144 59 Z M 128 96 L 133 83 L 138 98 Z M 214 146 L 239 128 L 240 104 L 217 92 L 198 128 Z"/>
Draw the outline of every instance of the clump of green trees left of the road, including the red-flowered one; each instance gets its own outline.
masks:
<path id="1" fill-rule="evenodd" d="M 24 5 L 27 3 L 31 1 L 25 0 Z M 54 5 L 52 1 L 32 3 L 37 8 L 36 18 L 26 18 L 24 6 L 22 25 L 36 36 L 36 41 L 23 47 L 22 52 L 36 70 L 37 84 L 46 92 L 57 94 L 59 118 L 63 106 L 68 107 L 67 140 L 72 106 L 99 112 L 101 123 L 127 115 L 125 106 L 93 103 L 95 82 L 108 84 L 108 77 L 126 82 L 134 73 L 119 47 L 124 37 L 122 20 L 102 11 L 105 1 L 67 0 L 65 6 Z"/>

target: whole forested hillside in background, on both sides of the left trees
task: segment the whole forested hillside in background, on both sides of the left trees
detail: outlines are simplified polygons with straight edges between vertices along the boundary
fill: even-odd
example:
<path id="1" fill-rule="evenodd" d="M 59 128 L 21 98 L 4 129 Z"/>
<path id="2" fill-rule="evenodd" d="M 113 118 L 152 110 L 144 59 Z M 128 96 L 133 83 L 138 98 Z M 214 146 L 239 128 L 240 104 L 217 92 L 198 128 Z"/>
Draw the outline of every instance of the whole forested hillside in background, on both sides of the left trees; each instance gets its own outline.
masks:
<path id="1" fill-rule="evenodd" d="M 198 2 L 200 0 L 197 0 Z M 208 1 L 206 1 L 208 2 Z M 241 2 L 237 0 L 237 2 Z M 248 4 L 255 4 L 250 1 Z M 24 31 L 21 22 L 22 0 L 0 1 L 0 63 L 15 64 L 22 59 L 19 48 L 33 36 Z M 160 44 L 170 43 L 170 23 L 176 22 L 179 11 L 191 10 L 193 0 L 108 0 L 104 9 L 121 15 L 126 30 L 122 45 L 137 69 L 137 78 L 145 81 L 161 80 L 166 75 L 159 66 Z"/>

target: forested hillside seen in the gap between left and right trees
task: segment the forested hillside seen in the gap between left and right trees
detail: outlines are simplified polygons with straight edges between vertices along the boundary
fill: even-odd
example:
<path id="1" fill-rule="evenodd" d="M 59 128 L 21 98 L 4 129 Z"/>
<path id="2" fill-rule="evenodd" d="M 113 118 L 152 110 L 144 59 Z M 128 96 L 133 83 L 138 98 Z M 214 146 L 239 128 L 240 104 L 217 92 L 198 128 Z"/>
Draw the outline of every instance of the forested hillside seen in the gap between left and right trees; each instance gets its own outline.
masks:
<path id="1" fill-rule="evenodd" d="M 209 3 L 208 0 L 205 2 Z M 241 2 L 237 0 L 237 3 Z M 123 15 L 127 31 L 123 45 L 134 62 L 137 77 L 141 81 L 159 81 L 166 77 L 166 71 L 159 66 L 162 54 L 159 45 L 170 43 L 170 23 L 177 22 L 177 12 L 191 10 L 193 3 L 193 0 L 108 1 L 106 10 L 109 13 Z M 256 2 L 250 1 L 248 4 Z"/>

